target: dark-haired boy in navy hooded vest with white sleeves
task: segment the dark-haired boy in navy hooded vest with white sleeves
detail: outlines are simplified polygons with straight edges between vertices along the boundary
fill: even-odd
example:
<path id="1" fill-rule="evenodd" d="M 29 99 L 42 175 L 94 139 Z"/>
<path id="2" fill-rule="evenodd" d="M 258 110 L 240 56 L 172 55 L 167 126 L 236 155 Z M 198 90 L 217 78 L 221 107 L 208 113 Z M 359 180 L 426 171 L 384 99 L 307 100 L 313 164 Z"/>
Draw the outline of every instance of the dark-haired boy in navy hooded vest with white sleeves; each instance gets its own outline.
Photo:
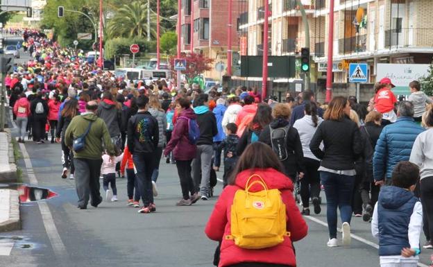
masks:
<path id="1" fill-rule="evenodd" d="M 392 184 L 380 189 L 373 211 L 371 233 L 379 238 L 380 267 L 416 267 L 420 254 L 423 207 L 412 193 L 419 169 L 400 162 L 392 173 Z"/>

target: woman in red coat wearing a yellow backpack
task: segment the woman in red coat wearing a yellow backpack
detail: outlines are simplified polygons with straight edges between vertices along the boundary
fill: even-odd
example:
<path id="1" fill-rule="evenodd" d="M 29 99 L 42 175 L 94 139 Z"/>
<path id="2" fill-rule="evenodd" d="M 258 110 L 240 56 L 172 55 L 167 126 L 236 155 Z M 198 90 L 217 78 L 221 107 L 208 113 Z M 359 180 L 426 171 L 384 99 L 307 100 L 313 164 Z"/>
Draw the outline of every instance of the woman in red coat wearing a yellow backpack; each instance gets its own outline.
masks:
<path id="1" fill-rule="evenodd" d="M 221 243 L 219 267 L 296 266 L 293 241 L 307 224 L 294 185 L 277 155 L 262 142 L 247 146 L 207 222 L 207 236 Z"/>

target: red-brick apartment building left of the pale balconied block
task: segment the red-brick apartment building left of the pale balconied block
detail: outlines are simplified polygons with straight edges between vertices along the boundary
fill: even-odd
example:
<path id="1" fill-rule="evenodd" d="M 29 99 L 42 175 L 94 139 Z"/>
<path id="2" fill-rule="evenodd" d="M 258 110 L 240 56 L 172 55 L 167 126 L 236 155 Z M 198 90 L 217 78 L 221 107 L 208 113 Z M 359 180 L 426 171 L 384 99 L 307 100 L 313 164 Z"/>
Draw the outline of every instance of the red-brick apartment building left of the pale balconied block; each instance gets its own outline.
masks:
<path id="1" fill-rule="evenodd" d="M 246 0 L 232 0 L 232 50 L 239 49 L 237 19 L 239 8 Z M 192 6 L 192 4 L 194 6 Z M 191 16 L 193 10 L 193 16 Z M 214 65 L 222 63 L 223 71 L 207 71 L 205 77 L 221 79 L 226 74 L 228 47 L 228 0 L 182 0 L 180 42 L 182 51 L 191 51 L 191 43 L 196 53 L 203 53 L 214 59 Z M 194 37 L 191 42 L 191 24 Z"/>

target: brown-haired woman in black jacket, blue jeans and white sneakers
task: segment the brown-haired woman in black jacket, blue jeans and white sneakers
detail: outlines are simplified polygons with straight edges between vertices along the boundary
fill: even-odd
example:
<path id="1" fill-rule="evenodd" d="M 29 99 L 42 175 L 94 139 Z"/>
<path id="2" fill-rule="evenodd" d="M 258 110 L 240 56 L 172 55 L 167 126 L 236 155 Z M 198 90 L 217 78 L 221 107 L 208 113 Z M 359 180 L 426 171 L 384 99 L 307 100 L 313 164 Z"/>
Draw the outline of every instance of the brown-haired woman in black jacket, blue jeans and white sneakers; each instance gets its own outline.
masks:
<path id="1" fill-rule="evenodd" d="M 362 153 L 362 142 L 357 124 L 349 119 L 347 98 L 332 99 L 317 128 L 309 149 L 321 160 L 321 182 L 325 187 L 326 219 L 330 239 L 328 247 L 337 247 L 337 207 L 343 230 L 343 246 L 350 245 L 350 218 L 352 217 L 353 188 L 355 187 L 355 160 Z M 323 149 L 321 143 L 323 141 Z"/>

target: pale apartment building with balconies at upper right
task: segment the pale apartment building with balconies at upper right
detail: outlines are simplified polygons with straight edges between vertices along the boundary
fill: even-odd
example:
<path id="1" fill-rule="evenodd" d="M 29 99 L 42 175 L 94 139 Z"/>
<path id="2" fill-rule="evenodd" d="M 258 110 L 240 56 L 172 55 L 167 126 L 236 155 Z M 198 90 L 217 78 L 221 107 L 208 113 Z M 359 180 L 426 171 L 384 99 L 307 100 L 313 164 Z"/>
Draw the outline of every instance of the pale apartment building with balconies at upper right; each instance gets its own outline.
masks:
<path id="1" fill-rule="evenodd" d="M 309 22 L 312 82 L 325 78 L 328 60 L 329 3 L 334 1 L 333 80 L 348 82 L 348 64 L 367 62 L 368 81 L 377 64 L 430 64 L 433 55 L 431 0 L 301 0 Z M 269 55 L 298 55 L 305 27 L 296 0 L 269 0 Z M 248 55 L 263 50 L 264 1 L 249 0 L 239 28 Z M 300 71 L 297 71 L 299 74 Z"/>

